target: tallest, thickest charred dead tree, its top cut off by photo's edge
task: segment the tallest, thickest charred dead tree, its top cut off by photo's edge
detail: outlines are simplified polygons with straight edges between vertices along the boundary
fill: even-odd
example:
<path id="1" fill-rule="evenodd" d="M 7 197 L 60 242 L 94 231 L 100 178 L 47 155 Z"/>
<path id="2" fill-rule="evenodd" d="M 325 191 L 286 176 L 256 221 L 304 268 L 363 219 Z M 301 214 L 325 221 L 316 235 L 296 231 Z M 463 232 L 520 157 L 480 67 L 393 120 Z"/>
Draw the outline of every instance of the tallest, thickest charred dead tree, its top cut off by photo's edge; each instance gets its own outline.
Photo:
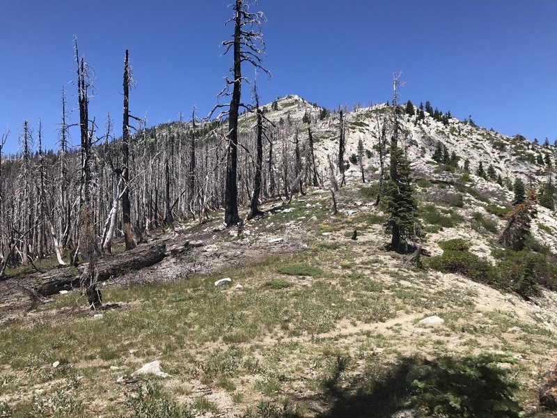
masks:
<path id="1" fill-rule="evenodd" d="M 265 42 L 261 33 L 262 21 L 265 15 L 262 12 L 249 12 L 249 0 L 235 0 L 233 3 L 233 17 L 226 23 L 234 22 L 234 35 L 232 40 L 222 42 L 226 47 L 224 54 L 233 49 L 233 68 L 231 70 L 233 79 L 225 77 L 226 86 L 219 96 L 231 95 L 230 104 L 217 104 L 214 109 L 228 107 L 228 111 L 219 115 L 228 116 L 228 148 L 226 164 L 226 187 L 224 199 L 224 222 L 227 226 L 237 224 L 240 221 L 238 215 L 238 187 L 237 187 L 237 146 L 238 146 L 238 116 L 240 107 L 249 109 L 241 102 L 242 89 L 242 63 L 251 63 L 255 68 L 260 68 L 267 75 L 269 70 L 261 65 L 261 56 L 265 53 Z M 233 91 L 230 93 L 230 86 Z M 213 109 L 213 111 L 214 111 Z"/>

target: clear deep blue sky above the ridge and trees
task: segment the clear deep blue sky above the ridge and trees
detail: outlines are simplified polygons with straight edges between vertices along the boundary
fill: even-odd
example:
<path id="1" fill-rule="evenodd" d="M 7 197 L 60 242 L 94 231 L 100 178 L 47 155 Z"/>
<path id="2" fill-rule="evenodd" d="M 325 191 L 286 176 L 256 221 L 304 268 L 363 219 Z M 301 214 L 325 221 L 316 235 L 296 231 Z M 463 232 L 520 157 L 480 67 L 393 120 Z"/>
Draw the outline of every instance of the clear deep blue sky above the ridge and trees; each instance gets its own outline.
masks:
<path id="1" fill-rule="evenodd" d="M 0 132 L 17 150 L 24 118 L 56 141 L 60 92 L 75 107 L 72 36 L 96 73 L 90 114 L 121 132 L 125 49 L 137 79 L 130 104 L 148 125 L 191 107 L 206 115 L 228 74 L 219 42 L 231 0 L 0 0 Z M 264 102 L 290 93 L 333 108 L 385 102 L 391 75 L 401 100 L 430 100 L 453 116 L 528 139 L 557 137 L 555 0 L 260 0 L 266 13 Z M 244 74 L 252 75 L 249 68 Z M 249 91 L 244 89 L 244 97 Z M 246 97 L 247 98 L 247 97 Z M 77 112 L 71 121 L 78 120 Z M 79 143 L 77 131 L 72 133 Z"/>

